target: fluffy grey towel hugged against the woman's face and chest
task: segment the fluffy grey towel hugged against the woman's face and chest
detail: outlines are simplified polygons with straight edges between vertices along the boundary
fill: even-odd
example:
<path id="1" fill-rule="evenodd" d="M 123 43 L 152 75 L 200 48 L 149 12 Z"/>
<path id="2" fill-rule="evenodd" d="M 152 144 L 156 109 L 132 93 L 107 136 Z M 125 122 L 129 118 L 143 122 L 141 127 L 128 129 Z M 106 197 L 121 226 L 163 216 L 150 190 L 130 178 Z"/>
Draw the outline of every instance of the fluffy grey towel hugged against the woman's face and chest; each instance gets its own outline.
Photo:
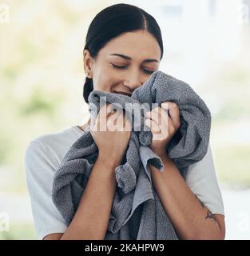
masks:
<path id="1" fill-rule="evenodd" d="M 161 158 L 149 148 L 152 133 L 137 129 L 143 126 L 145 112 L 141 111 L 139 118 L 136 117 L 128 103 L 137 104 L 143 110 L 152 110 L 151 106 L 161 106 L 166 101 L 177 103 L 181 126 L 169 142 L 166 154 L 183 178 L 188 166 L 204 158 L 208 150 L 211 126 L 208 107 L 191 86 L 162 71 L 154 72 L 131 97 L 93 90 L 89 94 L 89 111 L 95 117 L 102 106 L 102 97 L 117 109 L 129 113 L 132 123 L 125 157 L 115 170 L 117 190 L 105 240 L 178 239 L 151 180 L 149 164 L 159 171 L 164 167 Z M 70 147 L 54 175 L 52 198 L 67 225 L 77 210 L 97 154 L 97 146 L 87 130 Z"/>

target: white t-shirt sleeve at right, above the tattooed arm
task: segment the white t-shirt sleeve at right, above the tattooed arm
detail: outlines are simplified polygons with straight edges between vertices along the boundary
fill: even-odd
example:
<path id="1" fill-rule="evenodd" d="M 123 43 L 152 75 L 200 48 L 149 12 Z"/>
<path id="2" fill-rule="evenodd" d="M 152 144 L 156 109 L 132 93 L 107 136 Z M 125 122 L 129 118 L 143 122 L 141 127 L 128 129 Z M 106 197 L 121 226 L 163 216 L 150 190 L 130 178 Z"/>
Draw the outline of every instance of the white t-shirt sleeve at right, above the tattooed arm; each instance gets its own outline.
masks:
<path id="1" fill-rule="evenodd" d="M 208 207 L 212 214 L 224 215 L 224 203 L 212 160 L 210 144 L 204 158 L 188 167 L 188 187 Z"/>

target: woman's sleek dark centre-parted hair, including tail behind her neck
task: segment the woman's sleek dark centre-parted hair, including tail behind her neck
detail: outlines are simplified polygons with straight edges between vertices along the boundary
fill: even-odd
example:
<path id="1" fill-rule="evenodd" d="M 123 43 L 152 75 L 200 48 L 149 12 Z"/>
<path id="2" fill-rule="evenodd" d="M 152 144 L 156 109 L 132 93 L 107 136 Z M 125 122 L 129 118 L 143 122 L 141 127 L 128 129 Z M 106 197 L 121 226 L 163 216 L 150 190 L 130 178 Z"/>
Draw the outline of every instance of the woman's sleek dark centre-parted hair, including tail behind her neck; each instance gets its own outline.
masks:
<path id="1" fill-rule="evenodd" d="M 96 58 L 99 50 L 111 39 L 133 30 L 149 31 L 159 43 L 162 58 L 163 43 L 157 21 L 145 10 L 125 3 L 108 6 L 93 18 L 86 35 L 84 50 L 89 50 L 91 57 Z M 92 90 L 93 79 L 86 77 L 83 98 L 87 103 Z"/>

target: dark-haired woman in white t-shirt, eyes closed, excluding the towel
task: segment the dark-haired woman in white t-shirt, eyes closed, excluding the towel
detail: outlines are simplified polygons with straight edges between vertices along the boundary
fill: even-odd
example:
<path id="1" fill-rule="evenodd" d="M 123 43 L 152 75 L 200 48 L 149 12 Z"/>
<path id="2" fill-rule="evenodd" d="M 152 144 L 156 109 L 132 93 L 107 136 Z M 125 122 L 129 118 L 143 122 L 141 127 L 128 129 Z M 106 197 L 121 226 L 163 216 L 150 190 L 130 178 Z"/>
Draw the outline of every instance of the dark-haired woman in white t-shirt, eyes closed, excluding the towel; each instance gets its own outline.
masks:
<path id="1" fill-rule="evenodd" d="M 105 8 L 93 19 L 86 36 L 83 52 L 85 102 L 93 89 L 132 94 L 158 70 L 162 55 L 161 30 L 151 15 L 127 4 Z M 162 119 L 169 118 L 169 126 L 165 127 L 169 134 L 162 140 L 153 140 L 150 147 L 161 157 L 165 171 L 160 173 L 153 166 L 150 171 L 162 205 L 178 238 L 224 239 L 224 206 L 210 146 L 200 162 L 189 166 L 184 180 L 164 150 L 180 126 L 179 109 L 173 102 L 165 102 L 161 107 L 169 109 L 170 118 L 167 114 L 161 115 Z M 161 107 L 149 112 L 145 121 L 153 137 L 162 129 L 156 118 L 164 112 L 159 111 Z M 101 113 L 105 113 L 105 118 L 100 118 Z M 107 128 L 112 115 L 117 115 L 117 122 L 125 126 L 125 119 L 118 118 L 118 112 L 110 113 L 109 105 L 105 105 L 97 116 L 95 127 Z M 105 132 L 98 132 L 89 126 L 90 121 L 35 138 L 26 149 L 26 180 L 39 238 L 105 238 L 116 189 L 115 168 L 125 154 L 130 131 L 105 129 Z M 77 212 L 69 226 L 65 226 L 51 198 L 54 172 L 69 147 L 86 129 L 90 129 L 99 154 Z"/>

